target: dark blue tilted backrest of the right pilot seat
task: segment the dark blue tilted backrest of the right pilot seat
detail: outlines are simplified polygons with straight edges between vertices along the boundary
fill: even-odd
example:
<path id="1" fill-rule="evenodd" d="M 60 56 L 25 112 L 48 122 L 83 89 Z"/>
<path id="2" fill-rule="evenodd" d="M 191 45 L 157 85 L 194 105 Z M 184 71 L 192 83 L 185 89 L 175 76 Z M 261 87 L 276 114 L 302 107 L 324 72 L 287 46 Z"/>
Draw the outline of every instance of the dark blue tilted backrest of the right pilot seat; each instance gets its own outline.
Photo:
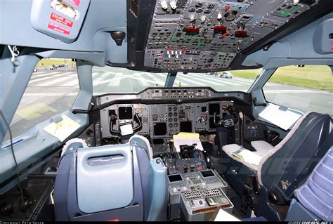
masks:
<path id="1" fill-rule="evenodd" d="M 310 174 L 307 167 L 317 164 L 329 147 L 322 147 L 332 132 L 332 117 L 329 114 L 310 112 L 296 122 L 287 137 L 270 150 L 259 163 L 258 180 L 268 188 L 280 185 L 281 180 L 289 181 L 285 195 L 291 197 L 297 183 Z"/>

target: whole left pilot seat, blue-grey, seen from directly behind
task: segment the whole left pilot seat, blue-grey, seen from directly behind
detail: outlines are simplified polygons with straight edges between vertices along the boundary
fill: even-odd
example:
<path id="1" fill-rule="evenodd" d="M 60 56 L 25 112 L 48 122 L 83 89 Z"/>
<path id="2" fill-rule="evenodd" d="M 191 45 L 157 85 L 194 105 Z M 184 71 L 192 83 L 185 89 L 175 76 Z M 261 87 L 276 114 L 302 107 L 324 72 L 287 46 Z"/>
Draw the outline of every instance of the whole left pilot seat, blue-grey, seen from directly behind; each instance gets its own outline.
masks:
<path id="1" fill-rule="evenodd" d="M 72 143 L 58 164 L 55 220 L 166 220 L 166 178 L 162 161 L 152 159 L 142 136 L 120 145 Z"/>

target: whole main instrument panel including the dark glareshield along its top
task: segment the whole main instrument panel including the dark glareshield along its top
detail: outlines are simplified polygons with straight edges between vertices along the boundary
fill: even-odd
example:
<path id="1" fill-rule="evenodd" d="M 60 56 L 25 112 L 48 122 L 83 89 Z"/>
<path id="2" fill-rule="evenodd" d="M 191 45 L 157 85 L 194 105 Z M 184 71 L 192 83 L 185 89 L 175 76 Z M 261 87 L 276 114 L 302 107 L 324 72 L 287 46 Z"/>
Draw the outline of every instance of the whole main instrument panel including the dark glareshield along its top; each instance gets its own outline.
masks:
<path id="1" fill-rule="evenodd" d="M 150 139 L 154 155 L 172 152 L 170 140 L 179 132 L 214 134 L 221 124 L 229 130 L 230 142 L 239 143 L 237 113 L 252 105 L 248 93 L 209 87 L 147 88 L 140 93 L 98 95 L 93 103 L 89 130 L 98 131 L 96 145 L 117 144 L 138 134 Z M 93 135 L 82 135 L 93 142 Z"/>

